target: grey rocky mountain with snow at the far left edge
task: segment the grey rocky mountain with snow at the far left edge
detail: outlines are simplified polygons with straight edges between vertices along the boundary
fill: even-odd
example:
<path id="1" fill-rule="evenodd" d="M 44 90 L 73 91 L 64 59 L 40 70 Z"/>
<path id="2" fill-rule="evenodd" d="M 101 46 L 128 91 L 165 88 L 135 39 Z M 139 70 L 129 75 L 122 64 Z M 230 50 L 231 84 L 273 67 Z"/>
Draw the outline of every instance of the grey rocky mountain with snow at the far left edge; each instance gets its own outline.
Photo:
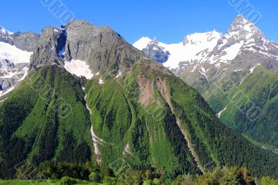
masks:
<path id="1" fill-rule="evenodd" d="M 0 27 L 0 97 L 26 77 L 28 63 L 40 35 L 12 33 Z"/>

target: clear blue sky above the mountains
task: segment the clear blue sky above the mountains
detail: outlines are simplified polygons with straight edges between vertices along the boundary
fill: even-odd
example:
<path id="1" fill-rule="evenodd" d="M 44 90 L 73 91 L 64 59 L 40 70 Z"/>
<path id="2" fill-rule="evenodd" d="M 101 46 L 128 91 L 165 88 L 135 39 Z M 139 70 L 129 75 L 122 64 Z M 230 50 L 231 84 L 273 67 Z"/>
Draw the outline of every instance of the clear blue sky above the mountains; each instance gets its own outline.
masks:
<path id="1" fill-rule="evenodd" d="M 76 19 L 111 26 L 130 43 L 142 36 L 173 43 L 181 42 L 189 33 L 213 29 L 226 33 L 240 13 L 230 3 L 245 1 L 261 14 L 259 29 L 268 39 L 278 41 L 277 0 L 11 0 L 1 2 L 0 25 L 13 32 L 35 33 L 44 26 L 59 26 L 60 20 L 41 1 L 61 1 Z"/>

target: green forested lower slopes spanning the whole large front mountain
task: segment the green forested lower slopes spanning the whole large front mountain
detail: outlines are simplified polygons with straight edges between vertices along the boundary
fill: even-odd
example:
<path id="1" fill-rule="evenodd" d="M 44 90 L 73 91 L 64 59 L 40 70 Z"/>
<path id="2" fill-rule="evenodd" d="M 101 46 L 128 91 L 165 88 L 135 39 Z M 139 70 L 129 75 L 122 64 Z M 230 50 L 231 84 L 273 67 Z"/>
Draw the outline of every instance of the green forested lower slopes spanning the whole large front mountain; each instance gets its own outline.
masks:
<path id="1" fill-rule="evenodd" d="M 26 158 L 37 164 L 101 159 L 101 166 L 124 158 L 131 168 L 154 166 L 168 177 L 218 165 L 247 166 L 258 176 L 278 174 L 276 154 L 227 129 L 197 91 L 161 65 L 142 60 L 122 77 L 102 75 L 103 84 L 100 77 L 82 79 L 90 119 L 81 82 L 56 65 L 41 67 L 1 103 L 1 177 L 10 177 L 14 164 Z M 54 94 L 32 88 L 44 87 L 42 79 Z M 44 99 L 46 92 L 50 96 Z M 55 111 L 59 97 L 72 107 L 68 115 Z M 102 140 L 99 156 L 90 124 Z"/>

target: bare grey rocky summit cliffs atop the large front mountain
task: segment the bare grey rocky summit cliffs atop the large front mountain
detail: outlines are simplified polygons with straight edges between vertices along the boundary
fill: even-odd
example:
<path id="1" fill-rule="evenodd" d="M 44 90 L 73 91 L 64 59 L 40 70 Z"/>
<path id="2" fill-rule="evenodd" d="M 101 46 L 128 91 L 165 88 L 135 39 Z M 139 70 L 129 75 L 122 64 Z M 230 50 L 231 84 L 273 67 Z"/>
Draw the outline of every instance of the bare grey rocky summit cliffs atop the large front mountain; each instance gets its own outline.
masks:
<path id="1" fill-rule="evenodd" d="M 33 51 L 29 68 L 45 63 L 80 60 L 90 66 L 93 73 L 109 67 L 129 67 L 143 52 L 134 52 L 120 34 L 108 27 L 97 27 L 85 21 L 68 23 L 63 29 L 47 27 Z"/>

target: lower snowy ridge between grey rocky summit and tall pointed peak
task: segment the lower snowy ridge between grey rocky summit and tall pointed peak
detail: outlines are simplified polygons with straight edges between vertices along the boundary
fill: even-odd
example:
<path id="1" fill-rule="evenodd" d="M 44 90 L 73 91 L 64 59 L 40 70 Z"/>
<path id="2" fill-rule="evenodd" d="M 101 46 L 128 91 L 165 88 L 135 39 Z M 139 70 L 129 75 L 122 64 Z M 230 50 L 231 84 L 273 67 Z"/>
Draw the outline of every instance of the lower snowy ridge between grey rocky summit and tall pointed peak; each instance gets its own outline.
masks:
<path id="1" fill-rule="evenodd" d="M 176 69 L 180 63 L 188 65 L 207 56 L 217 45 L 222 33 L 209 31 L 206 33 L 193 33 L 186 35 L 183 42 L 167 45 L 158 42 L 156 38 L 141 38 L 133 44 L 134 47 L 145 51 L 150 58 L 163 63 L 170 69 Z"/>

